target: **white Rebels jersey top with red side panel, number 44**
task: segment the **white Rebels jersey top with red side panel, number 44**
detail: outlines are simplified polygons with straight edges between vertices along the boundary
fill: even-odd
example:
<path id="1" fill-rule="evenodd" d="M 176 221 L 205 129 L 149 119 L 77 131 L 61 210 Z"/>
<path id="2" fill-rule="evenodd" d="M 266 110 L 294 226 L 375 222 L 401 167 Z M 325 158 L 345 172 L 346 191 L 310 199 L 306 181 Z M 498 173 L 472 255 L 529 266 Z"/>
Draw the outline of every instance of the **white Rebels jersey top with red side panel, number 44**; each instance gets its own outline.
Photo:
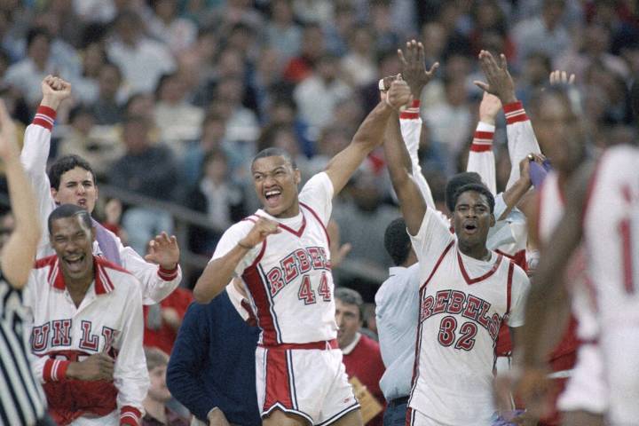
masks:
<path id="1" fill-rule="evenodd" d="M 280 223 L 251 249 L 235 272 L 244 281 L 262 328 L 260 343 L 312 343 L 336 337 L 334 285 L 326 224 L 333 185 L 326 173 L 310 179 L 299 194 L 300 213 L 279 219 L 259 209 L 233 225 L 213 259 L 224 256 L 248 234 L 259 217 Z"/>

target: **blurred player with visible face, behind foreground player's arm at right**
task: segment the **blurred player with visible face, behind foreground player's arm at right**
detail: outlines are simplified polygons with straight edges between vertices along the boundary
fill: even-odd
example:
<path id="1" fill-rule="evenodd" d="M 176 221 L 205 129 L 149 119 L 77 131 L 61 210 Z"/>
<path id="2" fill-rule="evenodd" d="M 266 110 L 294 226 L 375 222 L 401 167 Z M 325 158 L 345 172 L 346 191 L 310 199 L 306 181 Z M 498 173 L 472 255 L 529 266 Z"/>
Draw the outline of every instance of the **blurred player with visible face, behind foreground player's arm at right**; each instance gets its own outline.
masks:
<path id="1" fill-rule="evenodd" d="M 572 86 L 549 87 L 536 94 L 532 102 L 540 144 L 554 166 L 535 194 L 535 209 L 529 217 L 531 238 L 542 254 L 556 243 L 556 225 L 564 215 L 568 182 L 586 159 L 579 114 L 570 98 L 572 91 Z M 556 143 L 557 140 L 562 140 L 562 143 Z M 544 296 L 546 303 L 554 303 L 547 321 L 553 325 L 555 333 L 548 333 L 548 338 L 537 350 L 545 351 L 546 359 L 549 355 L 553 376 L 559 379 L 558 390 L 562 393 L 556 401 L 556 408 L 564 413 L 565 424 L 601 424 L 607 406 L 607 389 L 596 346 L 598 330 L 583 255 L 572 259 L 565 284 L 554 288 L 554 291 L 555 294 Z M 570 322 L 568 320 L 570 304 L 557 303 L 567 300 L 568 294 L 572 298 L 572 314 L 577 323 L 572 318 Z M 564 330 L 564 335 L 560 335 Z M 538 373 L 541 377 L 548 371 L 542 368 Z M 566 375 L 572 376 L 568 383 L 564 383 Z"/>

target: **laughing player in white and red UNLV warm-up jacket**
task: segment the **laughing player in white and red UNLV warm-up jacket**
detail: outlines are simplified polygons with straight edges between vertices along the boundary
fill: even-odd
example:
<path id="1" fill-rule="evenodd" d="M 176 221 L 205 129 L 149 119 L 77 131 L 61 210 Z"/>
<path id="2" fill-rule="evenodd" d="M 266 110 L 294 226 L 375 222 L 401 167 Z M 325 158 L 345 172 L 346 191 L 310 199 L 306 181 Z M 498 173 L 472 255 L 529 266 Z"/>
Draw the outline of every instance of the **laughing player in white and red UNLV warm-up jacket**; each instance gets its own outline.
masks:
<path id="1" fill-rule="evenodd" d="M 138 280 L 92 255 L 85 209 L 63 204 L 48 225 L 56 255 L 36 261 L 24 303 L 50 413 L 59 424 L 137 426 L 149 384 Z"/>

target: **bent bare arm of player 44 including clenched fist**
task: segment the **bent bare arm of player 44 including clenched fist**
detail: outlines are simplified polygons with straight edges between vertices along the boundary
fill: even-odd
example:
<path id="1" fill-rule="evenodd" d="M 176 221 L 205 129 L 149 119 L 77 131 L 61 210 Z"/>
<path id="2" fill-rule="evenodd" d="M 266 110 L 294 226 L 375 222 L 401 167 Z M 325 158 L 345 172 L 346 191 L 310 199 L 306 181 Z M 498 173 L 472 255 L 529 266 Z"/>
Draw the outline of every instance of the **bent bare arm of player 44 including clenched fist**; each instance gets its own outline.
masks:
<path id="1" fill-rule="evenodd" d="M 266 237 L 272 233 L 280 233 L 281 230 L 278 226 L 277 222 L 260 217 L 248 235 L 239 241 L 231 251 L 225 256 L 209 262 L 193 288 L 195 302 L 208 304 L 215 296 L 222 293 L 233 278 L 235 268 L 248 254 L 248 251 L 256 245 L 262 244 Z"/>

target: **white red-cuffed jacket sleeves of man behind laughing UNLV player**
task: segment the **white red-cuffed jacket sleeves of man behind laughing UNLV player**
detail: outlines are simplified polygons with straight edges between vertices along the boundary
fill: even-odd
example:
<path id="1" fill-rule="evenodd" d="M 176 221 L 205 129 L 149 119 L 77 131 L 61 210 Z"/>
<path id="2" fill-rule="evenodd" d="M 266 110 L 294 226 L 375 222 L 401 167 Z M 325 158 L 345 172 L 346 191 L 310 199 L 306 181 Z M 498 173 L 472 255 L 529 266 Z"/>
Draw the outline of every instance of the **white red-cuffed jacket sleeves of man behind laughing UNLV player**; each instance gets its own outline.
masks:
<path id="1" fill-rule="evenodd" d="M 55 254 L 49 241 L 47 219 L 57 206 L 51 196 L 51 182 L 46 174 L 46 164 L 51 148 L 51 130 L 56 112 L 47 107 L 39 106 L 33 122 L 27 127 L 24 146 L 20 154 L 20 161 L 27 171 L 27 175 L 36 193 L 38 217 L 42 224 L 43 235 L 38 246 L 37 257 Z M 110 233 L 109 231 L 106 231 Z M 122 267 L 131 272 L 139 280 L 144 304 L 158 304 L 177 288 L 182 280 L 182 270 L 179 265 L 174 270 L 166 270 L 157 264 L 146 262 L 142 256 L 130 247 L 124 247 L 122 241 L 114 234 L 115 245 L 120 253 Z M 93 243 L 93 254 L 102 256 L 98 241 Z"/>

